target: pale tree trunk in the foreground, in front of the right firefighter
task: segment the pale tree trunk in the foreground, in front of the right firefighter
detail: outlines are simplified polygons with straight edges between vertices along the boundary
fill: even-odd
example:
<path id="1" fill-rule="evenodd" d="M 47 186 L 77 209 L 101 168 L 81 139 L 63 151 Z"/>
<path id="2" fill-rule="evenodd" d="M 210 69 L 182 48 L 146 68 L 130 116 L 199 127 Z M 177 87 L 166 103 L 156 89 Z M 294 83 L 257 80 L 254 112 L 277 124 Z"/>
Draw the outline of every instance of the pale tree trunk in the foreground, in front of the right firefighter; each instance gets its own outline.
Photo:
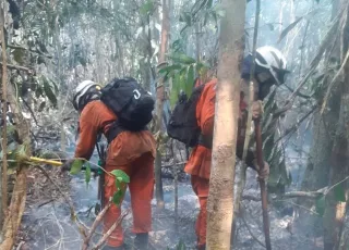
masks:
<path id="1" fill-rule="evenodd" d="M 207 249 L 215 250 L 230 249 L 240 101 L 239 63 L 244 49 L 245 5 L 244 0 L 222 0 L 226 14 L 220 23 L 213 162 L 207 203 Z"/>

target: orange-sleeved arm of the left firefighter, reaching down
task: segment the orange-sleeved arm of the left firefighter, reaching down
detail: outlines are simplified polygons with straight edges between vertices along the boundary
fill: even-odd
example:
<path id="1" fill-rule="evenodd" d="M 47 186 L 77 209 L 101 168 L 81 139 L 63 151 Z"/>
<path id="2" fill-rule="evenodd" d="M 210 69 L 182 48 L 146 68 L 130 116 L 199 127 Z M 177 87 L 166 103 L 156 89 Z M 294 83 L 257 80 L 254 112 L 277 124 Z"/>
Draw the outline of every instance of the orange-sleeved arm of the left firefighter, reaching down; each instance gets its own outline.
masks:
<path id="1" fill-rule="evenodd" d="M 84 158 L 87 161 L 91 159 L 97 141 L 98 127 L 92 124 L 86 117 L 86 113 L 80 118 L 80 133 L 77 146 L 75 149 L 75 158 Z"/>

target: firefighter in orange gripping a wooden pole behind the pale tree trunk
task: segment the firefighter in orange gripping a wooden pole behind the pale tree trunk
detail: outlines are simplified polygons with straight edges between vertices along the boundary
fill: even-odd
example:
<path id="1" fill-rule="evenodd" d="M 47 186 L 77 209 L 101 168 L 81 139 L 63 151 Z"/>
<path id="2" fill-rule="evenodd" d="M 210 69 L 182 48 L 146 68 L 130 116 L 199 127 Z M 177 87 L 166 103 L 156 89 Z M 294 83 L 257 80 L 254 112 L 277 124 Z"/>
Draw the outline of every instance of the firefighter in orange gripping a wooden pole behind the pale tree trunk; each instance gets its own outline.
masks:
<path id="1" fill-rule="evenodd" d="M 251 55 L 244 59 L 242 68 L 242 82 L 248 84 L 250 79 Z M 250 61 L 249 61 L 250 60 Z M 272 47 L 262 47 L 257 49 L 256 57 L 256 75 L 254 82 L 260 85 L 260 99 L 263 99 L 269 91 L 272 85 L 280 85 L 284 82 L 286 70 L 286 60 L 284 55 Z M 214 114 L 215 114 L 215 97 L 216 97 L 217 79 L 207 83 L 201 93 L 196 104 L 196 118 L 201 128 L 201 137 L 198 145 L 193 149 L 192 154 L 185 165 L 184 171 L 191 175 L 191 183 L 194 192 L 200 202 L 200 213 L 195 225 L 197 236 L 197 249 L 206 247 L 206 204 L 209 190 L 209 175 L 212 163 L 212 142 L 214 133 Z M 263 97 L 262 97 L 263 96 Z M 240 95 L 240 117 L 238 129 L 237 155 L 241 159 L 243 153 L 244 132 L 246 121 L 246 103 L 243 101 L 244 93 Z M 261 115 L 261 102 L 253 102 L 252 116 L 257 118 Z M 244 114 L 244 115 L 242 115 Z M 244 118 L 242 117 L 244 116 Z M 258 171 L 254 152 L 248 151 L 246 165 L 258 172 L 260 178 L 266 178 L 269 173 L 269 166 L 265 163 L 263 172 Z"/>

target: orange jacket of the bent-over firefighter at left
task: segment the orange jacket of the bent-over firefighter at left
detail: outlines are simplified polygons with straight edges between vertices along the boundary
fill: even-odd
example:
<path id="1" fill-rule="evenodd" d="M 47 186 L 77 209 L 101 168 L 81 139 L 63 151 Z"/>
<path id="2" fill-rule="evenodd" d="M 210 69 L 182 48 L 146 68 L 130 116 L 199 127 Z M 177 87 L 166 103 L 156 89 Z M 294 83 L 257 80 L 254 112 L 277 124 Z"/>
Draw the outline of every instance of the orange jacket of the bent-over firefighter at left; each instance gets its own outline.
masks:
<path id="1" fill-rule="evenodd" d="M 75 158 L 89 160 L 98 133 L 106 134 L 116 114 L 101 101 L 89 102 L 80 116 L 80 137 L 75 149 Z M 143 153 L 151 152 L 155 157 L 156 142 L 151 132 L 122 132 L 115 138 L 107 152 L 107 165 L 125 165 Z"/>

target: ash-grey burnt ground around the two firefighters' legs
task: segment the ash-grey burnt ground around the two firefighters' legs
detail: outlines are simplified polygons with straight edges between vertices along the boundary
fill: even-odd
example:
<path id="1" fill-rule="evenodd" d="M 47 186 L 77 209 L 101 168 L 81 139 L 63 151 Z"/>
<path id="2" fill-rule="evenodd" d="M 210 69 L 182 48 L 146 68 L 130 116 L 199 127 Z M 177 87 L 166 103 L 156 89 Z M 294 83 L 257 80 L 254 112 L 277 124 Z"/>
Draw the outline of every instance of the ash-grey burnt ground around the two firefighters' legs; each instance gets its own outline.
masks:
<path id="1" fill-rule="evenodd" d="M 88 187 L 84 176 L 71 177 L 60 175 L 58 170 L 50 170 L 50 176 L 59 184 L 60 188 L 74 202 L 75 211 L 86 226 L 91 226 L 95 220 L 94 204 L 96 203 L 97 179 L 92 179 Z M 21 230 L 17 237 L 17 249 L 31 250 L 59 250 L 80 249 L 81 235 L 76 225 L 70 218 L 70 210 L 57 188 L 50 184 L 37 170 L 28 176 L 28 198 Z M 174 224 L 173 185 L 171 180 L 164 183 L 166 209 L 158 212 L 153 200 L 153 232 L 151 243 L 153 249 L 176 249 L 182 240 L 186 249 L 194 249 L 195 234 L 194 224 L 198 212 L 197 199 L 191 190 L 188 179 L 179 184 L 179 214 L 178 226 Z M 252 172 L 249 172 L 246 193 L 258 196 L 257 185 Z M 263 226 L 261 203 L 244 201 L 244 221 L 239 220 L 238 237 L 234 249 L 264 249 L 257 241 L 263 243 Z M 309 238 L 301 228 L 291 226 L 292 213 L 287 209 L 282 212 L 270 205 L 270 235 L 274 249 L 323 249 L 321 238 Z M 130 197 L 127 193 L 123 209 L 130 208 Z M 132 215 L 123 221 L 125 243 L 132 246 L 134 235 L 131 233 Z M 101 229 L 93 241 L 100 237 Z M 252 233 L 252 235 L 251 235 Z M 292 233 L 292 234 L 291 234 Z"/>

